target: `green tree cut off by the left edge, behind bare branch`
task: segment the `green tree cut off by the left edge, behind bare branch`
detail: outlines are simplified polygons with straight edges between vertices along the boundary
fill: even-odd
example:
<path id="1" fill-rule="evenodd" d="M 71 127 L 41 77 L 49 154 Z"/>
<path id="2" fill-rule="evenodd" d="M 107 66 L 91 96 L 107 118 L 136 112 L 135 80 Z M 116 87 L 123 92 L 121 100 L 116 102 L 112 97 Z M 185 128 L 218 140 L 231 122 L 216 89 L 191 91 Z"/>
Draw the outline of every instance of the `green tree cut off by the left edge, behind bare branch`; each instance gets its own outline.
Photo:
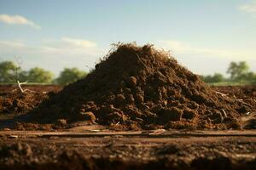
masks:
<path id="1" fill-rule="evenodd" d="M 15 77 L 15 71 L 20 67 L 12 61 L 3 61 L 0 63 L 0 82 L 13 82 L 12 77 Z"/>

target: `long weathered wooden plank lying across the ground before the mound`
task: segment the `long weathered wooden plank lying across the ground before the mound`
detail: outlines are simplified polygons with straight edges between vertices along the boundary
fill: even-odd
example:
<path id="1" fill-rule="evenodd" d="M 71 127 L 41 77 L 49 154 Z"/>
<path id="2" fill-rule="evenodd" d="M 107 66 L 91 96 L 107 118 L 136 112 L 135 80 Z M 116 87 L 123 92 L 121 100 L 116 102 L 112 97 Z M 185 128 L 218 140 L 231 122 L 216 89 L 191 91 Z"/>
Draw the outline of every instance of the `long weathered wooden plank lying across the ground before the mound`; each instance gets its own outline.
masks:
<path id="1" fill-rule="evenodd" d="M 70 137 L 70 138 L 86 138 L 86 137 L 105 137 L 105 136 L 124 136 L 124 137 L 148 137 L 148 138 L 177 138 L 177 137 L 256 137 L 256 131 L 162 131 L 162 133 L 154 133 L 155 131 L 87 131 L 87 132 L 44 132 L 44 131 L 0 131 L 0 136 L 36 136 L 40 138 L 49 137 Z"/>

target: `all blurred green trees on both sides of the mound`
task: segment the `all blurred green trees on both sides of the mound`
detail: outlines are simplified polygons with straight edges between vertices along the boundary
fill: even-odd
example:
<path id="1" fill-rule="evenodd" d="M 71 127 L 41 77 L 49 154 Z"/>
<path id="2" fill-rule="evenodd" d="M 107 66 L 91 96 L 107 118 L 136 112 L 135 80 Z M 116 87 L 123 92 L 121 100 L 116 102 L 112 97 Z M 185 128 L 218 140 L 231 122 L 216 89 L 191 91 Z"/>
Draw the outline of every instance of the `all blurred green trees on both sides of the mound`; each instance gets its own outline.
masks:
<path id="1" fill-rule="evenodd" d="M 231 62 L 227 74 L 229 77 L 224 77 L 221 73 L 213 75 L 201 76 L 202 80 L 212 85 L 245 85 L 256 84 L 256 73 L 250 71 L 247 62 Z M 20 65 L 12 61 L 0 62 L 0 83 L 13 83 L 14 77 L 18 77 L 20 82 L 29 83 L 46 83 L 59 84 L 66 86 L 69 83 L 75 82 L 82 77 L 85 77 L 87 72 L 80 71 L 78 68 L 65 68 L 61 71 L 59 77 L 54 76 L 51 71 L 46 71 L 43 68 L 34 67 L 29 71 L 23 71 Z"/>

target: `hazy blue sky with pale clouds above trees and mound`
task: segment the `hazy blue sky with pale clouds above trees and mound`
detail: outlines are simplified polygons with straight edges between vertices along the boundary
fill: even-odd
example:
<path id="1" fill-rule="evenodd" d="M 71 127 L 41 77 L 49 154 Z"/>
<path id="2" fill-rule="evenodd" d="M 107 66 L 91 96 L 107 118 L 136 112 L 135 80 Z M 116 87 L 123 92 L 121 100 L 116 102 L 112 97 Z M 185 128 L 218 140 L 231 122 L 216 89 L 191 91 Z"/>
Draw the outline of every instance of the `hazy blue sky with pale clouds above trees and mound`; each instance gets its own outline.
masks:
<path id="1" fill-rule="evenodd" d="M 113 42 L 154 43 L 197 74 L 256 71 L 256 0 L 0 0 L 0 59 L 24 69 L 88 71 Z"/>

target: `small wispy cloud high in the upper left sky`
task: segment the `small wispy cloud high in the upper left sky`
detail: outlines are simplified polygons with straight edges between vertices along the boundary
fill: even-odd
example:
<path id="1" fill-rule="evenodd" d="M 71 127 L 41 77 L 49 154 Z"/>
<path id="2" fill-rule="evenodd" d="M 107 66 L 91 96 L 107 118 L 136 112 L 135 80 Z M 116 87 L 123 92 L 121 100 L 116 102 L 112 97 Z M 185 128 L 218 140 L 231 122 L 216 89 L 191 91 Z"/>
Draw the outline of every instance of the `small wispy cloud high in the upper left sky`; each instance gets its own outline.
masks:
<path id="1" fill-rule="evenodd" d="M 0 21 L 9 25 L 31 26 L 32 28 L 35 29 L 41 28 L 41 26 L 38 26 L 32 20 L 28 20 L 24 16 L 20 15 L 0 14 Z"/>

